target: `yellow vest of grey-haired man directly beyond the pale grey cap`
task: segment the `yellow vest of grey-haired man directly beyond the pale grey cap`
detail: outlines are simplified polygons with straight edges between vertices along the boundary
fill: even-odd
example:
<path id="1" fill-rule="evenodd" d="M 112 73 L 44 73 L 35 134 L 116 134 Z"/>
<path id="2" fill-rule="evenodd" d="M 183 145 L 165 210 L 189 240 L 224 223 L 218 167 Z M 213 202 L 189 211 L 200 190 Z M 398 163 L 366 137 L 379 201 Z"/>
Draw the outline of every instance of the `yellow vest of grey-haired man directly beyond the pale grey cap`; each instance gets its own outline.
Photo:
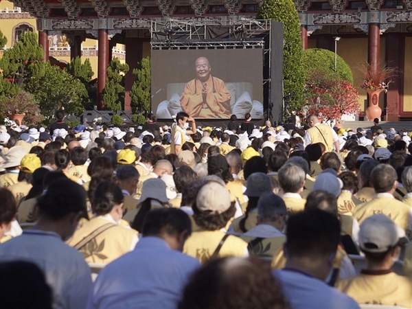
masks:
<path id="1" fill-rule="evenodd" d="M 393 220 L 396 225 L 402 227 L 409 236 L 410 231 L 407 231 L 408 216 L 410 207 L 395 198 L 376 197 L 371 201 L 356 206 L 354 218 L 362 224 L 363 220 L 374 215 L 384 214 Z"/>

